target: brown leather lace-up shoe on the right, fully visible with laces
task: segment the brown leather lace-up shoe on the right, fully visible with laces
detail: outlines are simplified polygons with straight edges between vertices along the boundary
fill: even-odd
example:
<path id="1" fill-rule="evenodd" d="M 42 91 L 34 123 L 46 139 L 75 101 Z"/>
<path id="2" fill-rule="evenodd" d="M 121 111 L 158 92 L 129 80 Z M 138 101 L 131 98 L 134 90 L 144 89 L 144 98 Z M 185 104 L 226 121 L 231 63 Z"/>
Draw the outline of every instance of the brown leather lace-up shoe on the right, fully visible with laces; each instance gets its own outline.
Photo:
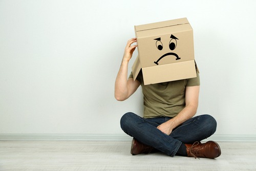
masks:
<path id="1" fill-rule="evenodd" d="M 221 148 L 215 141 L 208 141 L 206 143 L 195 142 L 194 144 L 185 144 L 187 147 L 187 157 L 203 157 L 203 158 L 217 158 L 221 155 Z"/>

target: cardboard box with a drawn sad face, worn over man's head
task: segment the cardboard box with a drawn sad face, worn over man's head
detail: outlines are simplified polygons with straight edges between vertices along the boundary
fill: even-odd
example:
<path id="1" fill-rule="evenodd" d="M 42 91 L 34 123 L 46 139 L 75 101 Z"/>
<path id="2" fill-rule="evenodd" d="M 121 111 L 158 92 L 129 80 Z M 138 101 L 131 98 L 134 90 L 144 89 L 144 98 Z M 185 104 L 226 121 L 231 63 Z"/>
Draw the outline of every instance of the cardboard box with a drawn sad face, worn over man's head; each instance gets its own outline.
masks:
<path id="1" fill-rule="evenodd" d="M 187 18 L 135 26 L 135 34 L 134 80 L 141 69 L 145 85 L 197 76 L 193 29 Z"/>

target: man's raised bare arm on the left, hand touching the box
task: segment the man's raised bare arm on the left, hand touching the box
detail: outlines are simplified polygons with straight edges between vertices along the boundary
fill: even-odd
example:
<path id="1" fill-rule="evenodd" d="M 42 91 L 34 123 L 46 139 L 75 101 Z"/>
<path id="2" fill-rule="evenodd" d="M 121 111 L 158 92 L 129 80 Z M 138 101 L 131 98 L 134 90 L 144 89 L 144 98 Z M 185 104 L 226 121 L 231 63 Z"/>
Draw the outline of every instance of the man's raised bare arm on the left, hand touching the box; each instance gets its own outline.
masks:
<path id="1" fill-rule="evenodd" d="M 137 45 L 131 45 L 136 41 L 136 38 L 132 38 L 127 41 L 124 50 L 122 63 L 115 82 L 115 98 L 118 101 L 123 101 L 129 98 L 140 86 L 140 82 L 138 80 L 133 81 L 132 78 L 127 80 L 128 64 L 137 47 Z"/>

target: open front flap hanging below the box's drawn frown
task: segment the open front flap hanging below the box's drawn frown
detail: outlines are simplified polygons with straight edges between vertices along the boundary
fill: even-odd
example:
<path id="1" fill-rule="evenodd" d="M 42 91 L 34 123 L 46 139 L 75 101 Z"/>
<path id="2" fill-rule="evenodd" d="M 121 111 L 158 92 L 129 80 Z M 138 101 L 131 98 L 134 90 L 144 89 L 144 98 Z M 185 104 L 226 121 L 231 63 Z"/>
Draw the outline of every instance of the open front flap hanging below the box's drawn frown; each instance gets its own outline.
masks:
<path id="1" fill-rule="evenodd" d="M 142 68 L 144 84 L 175 81 L 197 76 L 195 61 L 169 63 L 156 67 Z"/>

